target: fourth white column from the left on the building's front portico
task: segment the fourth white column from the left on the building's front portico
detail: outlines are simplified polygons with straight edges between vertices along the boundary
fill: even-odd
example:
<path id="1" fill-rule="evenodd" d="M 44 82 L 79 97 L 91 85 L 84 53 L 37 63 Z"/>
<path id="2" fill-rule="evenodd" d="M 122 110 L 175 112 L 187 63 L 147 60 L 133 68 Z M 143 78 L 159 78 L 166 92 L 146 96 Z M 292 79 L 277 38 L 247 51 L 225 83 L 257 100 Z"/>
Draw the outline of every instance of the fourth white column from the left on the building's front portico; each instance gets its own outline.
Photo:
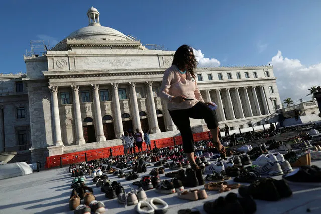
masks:
<path id="1" fill-rule="evenodd" d="M 114 122 L 116 126 L 116 138 L 120 138 L 124 134 L 121 106 L 118 97 L 118 83 L 112 83 L 113 86 L 113 107 L 114 107 Z"/>

